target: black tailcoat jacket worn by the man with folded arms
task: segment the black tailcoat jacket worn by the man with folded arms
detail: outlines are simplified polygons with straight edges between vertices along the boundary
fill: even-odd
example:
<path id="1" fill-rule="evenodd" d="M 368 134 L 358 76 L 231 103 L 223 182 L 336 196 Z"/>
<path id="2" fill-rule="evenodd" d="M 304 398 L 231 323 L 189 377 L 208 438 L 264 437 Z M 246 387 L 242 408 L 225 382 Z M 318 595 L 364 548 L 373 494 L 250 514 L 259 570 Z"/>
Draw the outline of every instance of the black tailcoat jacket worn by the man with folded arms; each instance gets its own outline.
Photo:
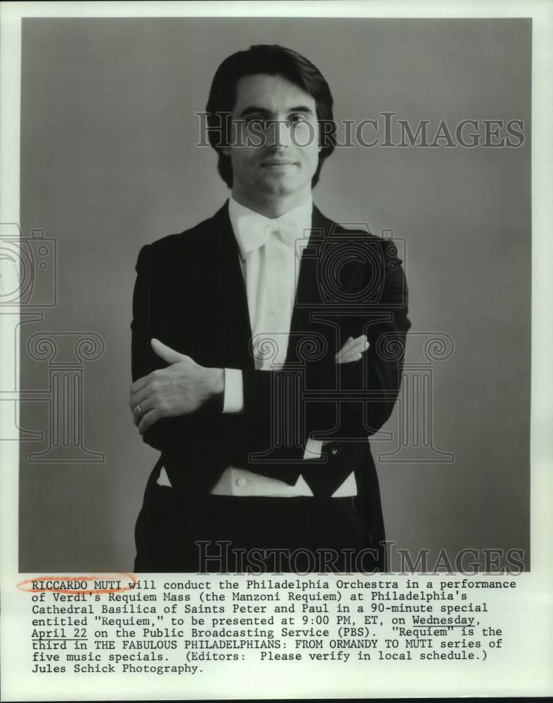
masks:
<path id="1" fill-rule="evenodd" d="M 143 439 L 162 452 L 183 498 L 205 494 L 230 464 L 331 496 L 354 470 L 358 508 L 383 536 L 375 464 L 367 440 L 389 418 L 401 383 L 410 328 L 405 276 L 396 247 L 345 229 L 313 207 L 301 256 L 285 367 L 256 370 L 245 284 L 228 201 L 197 226 L 138 254 L 133 299 L 132 377 L 167 364 L 152 337 L 202 366 L 240 368 L 244 410 L 221 404 L 163 418 Z M 361 361 L 337 366 L 348 337 L 365 333 Z M 325 439 L 320 460 L 304 460 L 310 434 Z"/>

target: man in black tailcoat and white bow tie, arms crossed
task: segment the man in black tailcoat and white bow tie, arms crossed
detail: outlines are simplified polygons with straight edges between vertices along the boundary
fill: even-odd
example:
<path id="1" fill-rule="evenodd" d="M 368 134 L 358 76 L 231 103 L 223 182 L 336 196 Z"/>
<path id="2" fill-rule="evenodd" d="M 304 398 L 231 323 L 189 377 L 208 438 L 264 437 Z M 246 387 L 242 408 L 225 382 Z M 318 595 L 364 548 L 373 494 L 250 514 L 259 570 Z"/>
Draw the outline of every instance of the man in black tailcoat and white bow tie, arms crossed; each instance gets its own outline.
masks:
<path id="1" fill-rule="evenodd" d="M 162 453 L 137 572 L 384 569 L 367 437 L 398 395 L 405 278 L 389 241 L 313 206 L 332 104 L 289 49 L 223 61 L 207 115 L 231 197 L 138 255 L 130 406 Z"/>

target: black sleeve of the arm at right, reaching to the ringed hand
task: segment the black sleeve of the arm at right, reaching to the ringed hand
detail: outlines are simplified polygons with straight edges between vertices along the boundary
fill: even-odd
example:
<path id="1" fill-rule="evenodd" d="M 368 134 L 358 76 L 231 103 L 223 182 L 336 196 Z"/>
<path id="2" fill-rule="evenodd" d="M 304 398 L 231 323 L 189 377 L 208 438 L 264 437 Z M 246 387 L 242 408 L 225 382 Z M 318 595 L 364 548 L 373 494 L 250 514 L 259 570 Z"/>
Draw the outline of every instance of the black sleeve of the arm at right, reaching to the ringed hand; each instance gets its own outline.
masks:
<path id="1" fill-rule="evenodd" d="M 401 259 L 389 240 L 382 246 L 382 277 L 377 297 L 340 325 L 344 344 L 366 334 L 370 347 L 360 361 L 337 365 L 332 350 L 323 361 L 278 371 L 243 369 L 244 408 L 236 433 L 250 452 L 285 446 L 294 434 L 298 458 L 306 441 L 366 441 L 388 420 L 398 398 L 405 355 L 408 291 Z M 365 283 L 375 271 L 367 266 Z M 354 331 L 353 331 L 354 330 Z M 301 377 L 301 378 L 299 378 Z M 278 436 L 278 433 L 281 433 Z"/>

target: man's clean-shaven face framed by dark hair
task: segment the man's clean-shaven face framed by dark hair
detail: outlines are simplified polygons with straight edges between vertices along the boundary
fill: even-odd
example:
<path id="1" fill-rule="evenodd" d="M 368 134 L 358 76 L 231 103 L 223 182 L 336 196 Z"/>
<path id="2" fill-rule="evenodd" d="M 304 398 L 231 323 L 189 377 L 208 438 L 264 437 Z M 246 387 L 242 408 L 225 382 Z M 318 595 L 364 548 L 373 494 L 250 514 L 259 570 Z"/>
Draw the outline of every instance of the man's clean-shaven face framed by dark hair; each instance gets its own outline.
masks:
<path id="1" fill-rule="evenodd" d="M 315 99 L 282 76 L 239 79 L 231 146 L 233 195 L 284 198 L 311 191 L 320 152 Z"/>

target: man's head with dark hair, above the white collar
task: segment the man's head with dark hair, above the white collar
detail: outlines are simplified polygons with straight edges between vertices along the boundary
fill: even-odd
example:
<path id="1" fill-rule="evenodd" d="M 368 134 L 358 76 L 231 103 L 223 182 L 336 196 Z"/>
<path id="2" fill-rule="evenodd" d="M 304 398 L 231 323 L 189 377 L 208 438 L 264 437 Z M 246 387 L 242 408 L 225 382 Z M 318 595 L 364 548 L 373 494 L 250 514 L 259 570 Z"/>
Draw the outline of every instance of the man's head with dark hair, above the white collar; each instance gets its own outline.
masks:
<path id="1" fill-rule="evenodd" d="M 226 58 L 206 110 L 228 187 L 268 197 L 311 190 L 334 150 L 332 105 L 323 75 L 291 49 L 262 44 Z"/>

